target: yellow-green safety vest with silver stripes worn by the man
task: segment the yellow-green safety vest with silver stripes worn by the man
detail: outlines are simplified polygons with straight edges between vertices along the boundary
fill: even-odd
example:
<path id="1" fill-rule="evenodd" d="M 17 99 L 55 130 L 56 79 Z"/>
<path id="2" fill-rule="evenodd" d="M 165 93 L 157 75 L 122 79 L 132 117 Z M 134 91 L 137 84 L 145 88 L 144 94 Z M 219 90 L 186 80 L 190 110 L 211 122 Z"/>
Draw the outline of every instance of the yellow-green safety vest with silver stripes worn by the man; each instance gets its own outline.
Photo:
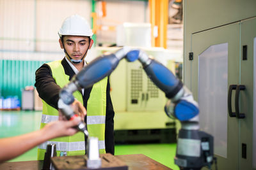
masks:
<path id="1" fill-rule="evenodd" d="M 47 63 L 51 67 L 52 77 L 61 88 L 69 83 L 69 76 L 65 74 L 61 60 Z M 99 151 L 106 153 L 105 150 L 105 122 L 106 122 L 106 88 L 108 78 L 95 83 L 93 85 L 90 97 L 87 103 L 87 127 L 89 136 L 99 138 Z M 83 97 L 79 91 L 74 92 L 74 97 L 83 103 Z M 43 113 L 40 129 L 49 122 L 58 120 L 58 110 L 52 108 L 43 101 Z M 51 139 L 38 146 L 38 160 L 43 160 L 47 144 L 56 144 L 57 156 L 60 152 L 67 152 L 67 155 L 84 155 L 84 134 L 77 132 L 73 136 Z"/>

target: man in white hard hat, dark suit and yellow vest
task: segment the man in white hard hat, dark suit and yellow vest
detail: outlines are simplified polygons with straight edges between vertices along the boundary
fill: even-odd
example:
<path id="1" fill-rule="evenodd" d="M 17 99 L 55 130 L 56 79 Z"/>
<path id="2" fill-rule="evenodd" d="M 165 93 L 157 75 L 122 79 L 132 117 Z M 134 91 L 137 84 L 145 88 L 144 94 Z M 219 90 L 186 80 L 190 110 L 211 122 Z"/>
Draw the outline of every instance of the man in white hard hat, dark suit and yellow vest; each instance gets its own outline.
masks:
<path id="1" fill-rule="evenodd" d="M 43 100 L 41 128 L 58 119 L 58 99 L 62 87 L 84 66 L 88 50 L 93 45 L 92 29 L 79 15 L 66 18 L 58 32 L 60 47 L 65 52 L 62 60 L 43 64 L 36 71 L 35 87 Z M 108 78 L 95 83 L 92 87 L 74 92 L 74 109 L 84 117 L 83 106 L 87 110 L 84 122 L 90 136 L 99 138 L 100 153 L 114 154 L 114 111 L 109 94 Z M 81 104 L 83 103 L 83 104 Z M 84 155 L 86 140 L 78 132 L 74 136 L 52 139 L 38 146 L 38 159 L 44 159 L 47 143 L 56 144 L 57 155 Z"/>

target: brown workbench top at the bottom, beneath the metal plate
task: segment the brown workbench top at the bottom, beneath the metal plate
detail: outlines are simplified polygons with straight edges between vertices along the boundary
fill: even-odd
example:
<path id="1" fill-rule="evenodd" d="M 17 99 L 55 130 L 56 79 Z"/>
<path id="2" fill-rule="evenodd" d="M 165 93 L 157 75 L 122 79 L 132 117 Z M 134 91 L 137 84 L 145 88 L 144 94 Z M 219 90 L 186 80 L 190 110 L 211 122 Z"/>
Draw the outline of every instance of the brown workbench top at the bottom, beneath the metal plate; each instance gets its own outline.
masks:
<path id="1" fill-rule="evenodd" d="M 127 164 L 129 170 L 141 170 L 141 169 L 156 169 L 156 170 L 172 170 L 169 167 L 156 162 L 156 160 L 150 159 L 143 154 L 132 154 L 132 155 L 116 155 L 118 159 L 122 160 Z M 43 166 L 42 160 L 31 160 L 22 162 L 4 162 L 0 164 L 0 169 L 4 170 L 41 170 Z"/>

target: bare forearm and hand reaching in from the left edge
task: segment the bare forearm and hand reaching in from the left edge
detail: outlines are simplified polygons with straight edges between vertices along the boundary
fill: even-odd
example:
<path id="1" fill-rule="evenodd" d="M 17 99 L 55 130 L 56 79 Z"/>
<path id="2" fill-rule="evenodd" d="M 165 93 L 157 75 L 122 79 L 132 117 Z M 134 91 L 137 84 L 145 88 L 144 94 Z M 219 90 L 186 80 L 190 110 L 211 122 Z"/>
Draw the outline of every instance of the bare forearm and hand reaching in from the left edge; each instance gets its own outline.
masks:
<path id="1" fill-rule="evenodd" d="M 45 125 L 39 131 L 0 139 L 0 162 L 13 159 L 49 139 L 76 134 L 77 130 L 72 127 L 80 121 L 81 118 L 70 121 L 58 120 Z"/>

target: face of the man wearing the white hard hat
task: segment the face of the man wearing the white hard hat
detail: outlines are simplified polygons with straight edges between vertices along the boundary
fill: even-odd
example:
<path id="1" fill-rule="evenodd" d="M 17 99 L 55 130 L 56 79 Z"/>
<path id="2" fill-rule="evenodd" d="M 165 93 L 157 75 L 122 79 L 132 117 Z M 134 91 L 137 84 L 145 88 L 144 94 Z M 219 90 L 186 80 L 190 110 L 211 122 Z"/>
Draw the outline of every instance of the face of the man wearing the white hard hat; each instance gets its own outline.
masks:
<path id="1" fill-rule="evenodd" d="M 90 38 L 86 36 L 64 36 L 63 44 L 61 42 L 61 39 L 59 40 L 59 42 L 61 48 L 65 46 L 65 50 L 71 57 L 71 59 L 81 60 L 87 49 L 90 49 L 93 44 L 93 41 L 91 41 L 89 46 L 89 40 Z"/>

